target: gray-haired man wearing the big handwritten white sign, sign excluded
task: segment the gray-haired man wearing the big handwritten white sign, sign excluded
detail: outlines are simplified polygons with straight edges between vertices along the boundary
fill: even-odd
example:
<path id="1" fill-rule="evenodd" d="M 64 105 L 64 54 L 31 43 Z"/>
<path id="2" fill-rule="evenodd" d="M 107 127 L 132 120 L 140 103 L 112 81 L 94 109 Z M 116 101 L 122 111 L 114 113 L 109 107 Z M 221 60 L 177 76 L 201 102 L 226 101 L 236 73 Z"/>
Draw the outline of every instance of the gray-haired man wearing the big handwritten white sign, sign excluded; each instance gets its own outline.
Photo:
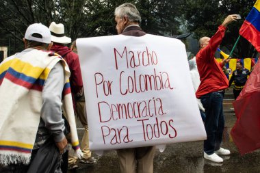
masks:
<path id="1" fill-rule="evenodd" d="M 139 26 L 140 13 L 131 3 L 124 3 L 116 8 L 115 21 L 118 34 L 135 37 L 146 34 Z M 119 149 L 117 153 L 121 172 L 135 172 L 135 160 L 138 162 L 136 172 L 153 172 L 155 146 Z"/>

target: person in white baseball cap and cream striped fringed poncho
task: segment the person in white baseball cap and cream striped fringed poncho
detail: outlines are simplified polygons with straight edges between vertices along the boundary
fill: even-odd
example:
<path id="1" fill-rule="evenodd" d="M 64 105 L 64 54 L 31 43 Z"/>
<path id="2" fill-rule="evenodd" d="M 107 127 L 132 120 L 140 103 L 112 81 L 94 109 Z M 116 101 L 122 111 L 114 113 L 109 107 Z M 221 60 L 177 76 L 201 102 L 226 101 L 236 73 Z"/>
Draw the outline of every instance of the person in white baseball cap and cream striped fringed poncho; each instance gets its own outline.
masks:
<path id="1" fill-rule="evenodd" d="M 34 23 L 25 32 L 25 50 L 0 64 L 0 165 L 1 172 L 55 172 L 67 140 L 62 119 L 62 98 L 67 119 L 75 131 L 70 92 L 62 96 L 69 78 L 66 62 L 51 48 L 48 27 Z M 57 80 L 59 79 L 59 80 Z M 60 80 L 64 79 L 64 80 Z M 77 133 L 73 135 L 78 145 Z M 46 149 L 47 148 L 47 149 Z M 44 157 L 42 152 L 49 156 Z"/>

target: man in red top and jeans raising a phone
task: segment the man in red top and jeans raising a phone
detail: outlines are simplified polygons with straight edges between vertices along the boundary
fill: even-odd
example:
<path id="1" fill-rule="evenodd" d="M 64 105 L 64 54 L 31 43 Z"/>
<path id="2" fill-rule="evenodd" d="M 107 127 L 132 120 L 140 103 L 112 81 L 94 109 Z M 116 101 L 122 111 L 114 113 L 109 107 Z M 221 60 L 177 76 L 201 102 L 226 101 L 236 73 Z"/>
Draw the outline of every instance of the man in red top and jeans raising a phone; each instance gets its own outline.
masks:
<path id="1" fill-rule="evenodd" d="M 200 51 L 196 55 L 196 63 L 200 74 L 200 85 L 196 97 L 200 98 L 205 108 L 205 130 L 207 139 L 204 141 L 204 158 L 215 162 L 223 162 L 218 155 L 229 155 L 230 151 L 220 148 L 224 130 L 223 97 L 224 90 L 229 87 L 229 81 L 222 67 L 229 59 L 218 63 L 215 52 L 224 38 L 226 26 L 237 20 L 237 14 L 227 16 L 218 31 L 211 38 L 199 40 Z"/>

